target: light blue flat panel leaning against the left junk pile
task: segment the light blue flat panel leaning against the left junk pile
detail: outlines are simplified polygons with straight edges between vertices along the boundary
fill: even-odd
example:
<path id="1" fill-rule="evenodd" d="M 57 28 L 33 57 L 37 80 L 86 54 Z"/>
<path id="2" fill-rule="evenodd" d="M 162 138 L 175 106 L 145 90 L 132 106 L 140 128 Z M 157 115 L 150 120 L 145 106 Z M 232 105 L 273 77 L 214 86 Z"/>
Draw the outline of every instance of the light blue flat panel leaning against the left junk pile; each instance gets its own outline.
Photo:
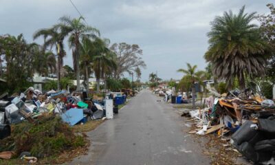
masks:
<path id="1" fill-rule="evenodd" d="M 61 118 L 63 122 L 73 126 L 83 119 L 83 109 L 69 109 L 61 115 Z"/>

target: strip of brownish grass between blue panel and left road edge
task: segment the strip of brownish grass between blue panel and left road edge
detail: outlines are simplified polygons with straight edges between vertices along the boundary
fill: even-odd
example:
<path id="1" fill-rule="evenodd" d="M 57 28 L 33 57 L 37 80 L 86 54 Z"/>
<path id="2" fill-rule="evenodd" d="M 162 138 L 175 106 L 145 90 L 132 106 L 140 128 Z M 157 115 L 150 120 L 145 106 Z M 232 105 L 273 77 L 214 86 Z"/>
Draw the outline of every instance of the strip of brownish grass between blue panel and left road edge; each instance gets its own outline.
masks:
<path id="1" fill-rule="evenodd" d="M 75 125 L 73 127 L 74 131 L 76 133 L 80 133 L 80 132 L 89 132 L 89 131 L 93 131 L 94 129 L 96 129 L 97 126 L 99 126 L 102 122 L 104 122 L 104 120 L 91 120 L 86 122 L 85 124 L 81 125 Z"/>

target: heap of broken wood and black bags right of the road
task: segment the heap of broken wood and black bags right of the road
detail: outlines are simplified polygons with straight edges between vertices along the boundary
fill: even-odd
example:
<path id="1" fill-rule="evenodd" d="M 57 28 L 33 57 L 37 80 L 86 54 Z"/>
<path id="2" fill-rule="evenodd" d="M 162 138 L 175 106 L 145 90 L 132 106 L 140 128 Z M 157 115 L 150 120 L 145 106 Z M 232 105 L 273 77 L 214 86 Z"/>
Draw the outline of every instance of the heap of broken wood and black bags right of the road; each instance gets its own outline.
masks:
<path id="1" fill-rule="evenodd" d="M 190 133 L 217 133 L 227 138 L 247 159 L 259 164 L 275 164 L 275 104 L 264 100 L 250 89 L 234 90 L 206 98 L 207 108 L 184 111 L 187 122 L 195 125 Z"/>

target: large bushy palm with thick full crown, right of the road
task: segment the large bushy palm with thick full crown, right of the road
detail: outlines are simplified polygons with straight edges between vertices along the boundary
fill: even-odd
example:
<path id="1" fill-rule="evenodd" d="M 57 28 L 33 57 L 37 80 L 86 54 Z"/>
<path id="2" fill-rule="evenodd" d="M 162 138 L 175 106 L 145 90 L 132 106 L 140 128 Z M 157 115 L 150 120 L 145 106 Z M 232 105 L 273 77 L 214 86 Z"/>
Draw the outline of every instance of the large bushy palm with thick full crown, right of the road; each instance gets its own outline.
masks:
<path id="1" fill-rule="evenodd" d="M 256 12 L 239 14 L 224 12 L 211 22 L 208 32 L 210 46 L 204 55 L 212 63 L 213 74 L 232 87 L 234 79 L 239 80 L 241 89 L 245 88 L 245 76 L 263 76 L 267 44 L 261 38 L 259 28 L 252 24 Z"/>

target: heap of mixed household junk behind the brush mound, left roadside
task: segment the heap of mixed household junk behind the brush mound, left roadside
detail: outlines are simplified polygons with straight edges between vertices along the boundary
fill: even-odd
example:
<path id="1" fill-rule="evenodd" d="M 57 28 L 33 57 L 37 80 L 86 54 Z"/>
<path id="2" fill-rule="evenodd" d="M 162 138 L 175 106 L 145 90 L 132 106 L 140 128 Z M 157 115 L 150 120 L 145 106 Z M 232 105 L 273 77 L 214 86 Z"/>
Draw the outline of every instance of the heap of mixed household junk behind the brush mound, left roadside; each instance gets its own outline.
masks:
<path id="1" fill-rule="evenodd" d="M 0 96 L 0 139 L 10 135 L 10 124 L 23 120 L 34 122 L 43 114 L 60 116 L 73 126 L 87 120 L 103 118 L 106 114 L 102 102 L 93 102 L 85 93 L 68 94 L 65 91 L 48 91 L 43 94 L 33 87 L 21 94 Z M 113 108 L 113 107 L 112 107 Z"/>

